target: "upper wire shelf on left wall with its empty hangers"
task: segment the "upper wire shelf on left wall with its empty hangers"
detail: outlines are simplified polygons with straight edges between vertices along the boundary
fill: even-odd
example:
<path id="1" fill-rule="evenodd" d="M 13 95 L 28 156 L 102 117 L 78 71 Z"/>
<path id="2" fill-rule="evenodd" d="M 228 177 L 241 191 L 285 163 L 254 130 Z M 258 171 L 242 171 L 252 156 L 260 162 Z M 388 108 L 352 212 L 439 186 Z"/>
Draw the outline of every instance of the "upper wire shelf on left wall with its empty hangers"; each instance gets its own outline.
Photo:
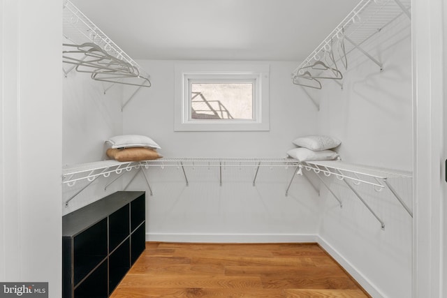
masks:
<path id="1" fill-rule="evenodd" d="M 77 49 L 78 52 L 82 52 L 79 50 L 85 51 L 87 56 L 89 55 L 89 51 L 91 49 L 96 50 L 95 47 L 87 48 L 87 45 L 96 45 L 101 49 L 101 54 L 104 54 L 105 57 L 109 57 L 112 63 L 108 64 L 108 68 L 105 68 L 107 71 L 103 71 L 103 68 L 100 68 L 99 71 L 95 71 L 92 73 L 92 78 L 94 80 L 101 80 L 105 82 L 113 82 L 120 84 L 131 84 L 140 87 L 150 87 L 149 74 L 145 72 L 131 57 L 129 57 L 124 50 L 122 50 L 118 45 L 116 45 L 108 36 L 105 35 L 101 29 L 99 29 L 89 18 L 84 15 L 76 6 L 71 3 L 69 0 L 64 1 L 64 9 L 63 9 L 63 35 L 68 40 L 71 40 L 73 45 L 66 44 L 68 47 L 69 54 L 72 54 L 73 47 L 84 45 L 85 47 L 82 49 Z M 76 66 L 86 66 L 93 68 L 89 61 L 84 61 L 85 57 L 79 58 L 79 55 L 74 55 L 74 59 L 66 55 L 64 53 L 64 62 L 69 64 L 75 64 L 73 68 Z M 94 58 L 97 58 L 95 56 Z M 103 58 L 103 57 L 102 57 Z M 88 60 L 88 59 L 87 59 Z M 114 69 L 117 65 L 116 62 L 119 62 L 119 68 Z M 108 62 L 105 62 L 106 64 Z M 111 66 L 110 66 L 111 65 Z M 95 65 L 97 66 L 97 65 Z M 122 66 L 126 66 L 128 70 L 124 73 Z M 64 73 L 69 73 L 73 68 L 68 71 L 64 70 Z M 110 71 L 109 71 L 110 70 Z M 94 71 L 94 70 L 92 70 Z M 128 79 L 135 80 L 140 79 L 138 82 L 131 82 Z"/>

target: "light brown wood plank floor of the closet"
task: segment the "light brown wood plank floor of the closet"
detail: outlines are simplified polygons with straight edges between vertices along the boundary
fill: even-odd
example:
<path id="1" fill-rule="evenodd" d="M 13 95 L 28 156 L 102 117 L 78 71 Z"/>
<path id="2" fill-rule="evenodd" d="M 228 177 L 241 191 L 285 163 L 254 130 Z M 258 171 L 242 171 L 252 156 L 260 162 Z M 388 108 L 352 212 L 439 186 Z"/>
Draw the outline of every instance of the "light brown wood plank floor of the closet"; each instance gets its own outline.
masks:
<path id="1" fill-rule="evenodd" d="M 317 244 L 148 242 L 111 297 L 370 296 Z"/>

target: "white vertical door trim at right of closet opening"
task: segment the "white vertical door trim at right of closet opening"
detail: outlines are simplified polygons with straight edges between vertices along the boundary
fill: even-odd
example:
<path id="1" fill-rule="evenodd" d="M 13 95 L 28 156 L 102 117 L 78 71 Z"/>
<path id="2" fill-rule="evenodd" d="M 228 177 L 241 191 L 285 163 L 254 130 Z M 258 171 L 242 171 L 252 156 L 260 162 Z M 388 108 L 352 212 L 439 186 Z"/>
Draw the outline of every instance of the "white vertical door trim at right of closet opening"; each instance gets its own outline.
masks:
<path id="1" fill-rule="evenodd" d="M 411 6 L 414 298 L 442 296 L 443 1 L 412 1 Z"/>

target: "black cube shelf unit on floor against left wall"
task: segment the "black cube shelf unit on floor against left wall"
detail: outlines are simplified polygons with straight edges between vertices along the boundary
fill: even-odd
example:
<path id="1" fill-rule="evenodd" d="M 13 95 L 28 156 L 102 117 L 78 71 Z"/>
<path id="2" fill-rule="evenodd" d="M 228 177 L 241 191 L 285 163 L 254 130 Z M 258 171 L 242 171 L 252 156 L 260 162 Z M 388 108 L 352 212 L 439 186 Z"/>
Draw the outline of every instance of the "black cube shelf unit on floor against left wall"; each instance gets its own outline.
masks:
<path id="1" fill-rule="evenodd" d="M 62 297 L 109 297 L 145 250 L 145 192 L 119 191 L 62 217 Z"/>

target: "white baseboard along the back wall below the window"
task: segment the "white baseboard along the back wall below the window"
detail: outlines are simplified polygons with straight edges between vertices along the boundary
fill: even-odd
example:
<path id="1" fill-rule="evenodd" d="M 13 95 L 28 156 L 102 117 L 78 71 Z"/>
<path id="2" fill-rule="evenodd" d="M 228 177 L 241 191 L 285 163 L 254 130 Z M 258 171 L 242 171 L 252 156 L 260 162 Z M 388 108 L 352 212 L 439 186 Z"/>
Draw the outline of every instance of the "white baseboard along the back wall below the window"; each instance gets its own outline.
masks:
<path id="1" fill-rule="evenodd" d="M 146 233 L 146 241 L 189 243 L 317 243 L 316 234 L 170 234 Z"/>

